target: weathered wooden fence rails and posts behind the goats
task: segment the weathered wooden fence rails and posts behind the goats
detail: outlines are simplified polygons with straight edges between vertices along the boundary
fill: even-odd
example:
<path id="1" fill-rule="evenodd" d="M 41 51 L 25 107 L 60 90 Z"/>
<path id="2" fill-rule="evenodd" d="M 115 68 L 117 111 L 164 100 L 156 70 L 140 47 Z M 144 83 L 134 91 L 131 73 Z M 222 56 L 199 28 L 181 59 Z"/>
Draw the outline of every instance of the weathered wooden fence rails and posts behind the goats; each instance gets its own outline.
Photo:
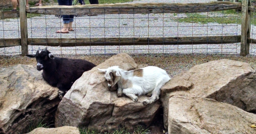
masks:
<path id="1" fill-rule="evenodd" d="M 22 2 L 22 1 L 21 1 Z M 169 37 L 169 38 L 27 38 L 21 39 L 0 39 L 0 47 L 26 45 L 47 45 L 47 46 L 88 46 L 88 45 L 182 45 L 182 44 L 228 44 L 241 42 L 240 54 L 249 54 L 250 38 L 250 11 L 254 10 L 251 0 L 243 0 L 242 3 L 234 2 L 210 2 L 210 3 L 137 3 L 137 4 L 99 4 L 99 5 L 75 5 L 75 6 L 42 6 L 30 7 L 27 13 L 38 14 L 149 14 L 149 13 L 197 13 L 212 12 L 230 9 L 242 9 L 242 32 L 241 36 L 207 36 L 207 37 Z M 14 18 L 23 16 L 22 13 L 13 11 L 2 11 L 1 18 Z M 26 19 L 26 18 L 22 18 Z M 24 22 L 26 23 L 26 22 Z M 25 29 L 24 29 L 25 28 Z M 245 29 L 245 30 L 243 30 Z M 26 27 L 21 32 L 26 34 Z M 249 30 L 249 31 L 248 31 Z M 22 34 L 21 34 L 22 35 Z M 26 39 L 23 39 L 26 38 Z M 26 41 L 27 40 L 27 41 Z M 26 41 L 27 44 L 24 42 Z M 255 42 L 255 41 L 254 41 Z M 23 44 L 23 45 L 22 45 Z M 22 50 L 22 55 L 28 52 Z"/>

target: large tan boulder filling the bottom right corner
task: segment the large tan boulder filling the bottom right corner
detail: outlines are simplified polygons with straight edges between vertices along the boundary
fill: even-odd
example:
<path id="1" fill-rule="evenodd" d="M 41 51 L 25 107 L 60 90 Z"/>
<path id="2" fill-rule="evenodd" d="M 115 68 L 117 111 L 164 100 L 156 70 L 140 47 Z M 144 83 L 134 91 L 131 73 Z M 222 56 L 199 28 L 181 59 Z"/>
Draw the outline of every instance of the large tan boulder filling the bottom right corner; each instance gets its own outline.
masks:
<path id="1" fill-rule="evenodd" d="M 256 133 L 250 127 L 256 122 L 256 115 L 236 106 L 187 96 L 173 96 L 169 103 L 169 133 Z"/>

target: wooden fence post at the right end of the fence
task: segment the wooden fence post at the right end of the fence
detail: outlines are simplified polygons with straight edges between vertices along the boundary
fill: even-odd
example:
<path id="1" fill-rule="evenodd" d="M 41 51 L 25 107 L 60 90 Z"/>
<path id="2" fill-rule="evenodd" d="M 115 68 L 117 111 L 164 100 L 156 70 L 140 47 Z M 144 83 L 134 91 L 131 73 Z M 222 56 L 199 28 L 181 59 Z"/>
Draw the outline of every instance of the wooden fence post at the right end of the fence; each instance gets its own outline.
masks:
<path id="1" fill-rule="evenodd" d="M 251 0 L 242 0 L 242 24 L 241 24 L 241 49 L 240 55 L 246 56 L 250 54 L 250 43 L 247 42 L 247 38 L 250 38 L 251 34 L 251 12 L 248 10 L 248 6 L 251 5 Z"/>

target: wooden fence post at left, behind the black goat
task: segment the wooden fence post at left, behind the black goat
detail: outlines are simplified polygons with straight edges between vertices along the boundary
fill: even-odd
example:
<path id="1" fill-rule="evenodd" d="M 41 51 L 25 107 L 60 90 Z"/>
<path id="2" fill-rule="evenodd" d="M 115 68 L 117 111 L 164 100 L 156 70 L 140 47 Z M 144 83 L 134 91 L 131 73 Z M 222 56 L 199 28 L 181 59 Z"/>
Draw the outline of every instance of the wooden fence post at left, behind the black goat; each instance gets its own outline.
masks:
<path id="1" fill-rule="evenodd" d="M 20 0 L 19 4 L 21 56 L 25 56 L 28 54 L 28 22 L 26 14 L 26 0 Z"/>

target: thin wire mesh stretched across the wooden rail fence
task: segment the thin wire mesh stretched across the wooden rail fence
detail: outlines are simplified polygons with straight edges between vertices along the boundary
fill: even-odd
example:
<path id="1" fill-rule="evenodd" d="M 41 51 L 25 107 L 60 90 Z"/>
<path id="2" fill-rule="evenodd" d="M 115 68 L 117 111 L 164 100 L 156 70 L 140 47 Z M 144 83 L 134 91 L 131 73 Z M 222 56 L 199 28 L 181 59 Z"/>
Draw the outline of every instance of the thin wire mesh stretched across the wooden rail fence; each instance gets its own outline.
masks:
<path id="1" fill-rule="evenodd" d="M 99 10 L 106 12 L 103 8 Z M 143 9 L 133 9 L 133 12 L 134 10 Z M 41 14 L 28 18 L 28 38 L 31 38 L 28 44 L 29 54 L 35 53 L 38 45 L 41 48 L 47 46 L 54 54 L 239 54 L 241 12 L 238 10 L 238 7 L 235 10 L 224 10 L 223 7 L 222 11 L 202 13 L 165 13 L 162 10 L 162 13 L 157 14 L 122 14 L 117 11 L 117 14 L 79 15 L 74 18 L 74 31 L 69 31 L 68 34 L 56 33 L 63 26 L 62 18 Z M 1 20 L 1 23 L 3 38 L 20 37 L 19 19 Z M 17 32 L 9 26 L 14 26 Z M 233 38 L 227 43 L 222 39 L 224 36 Z M 190 37 L 186 43 L 179 42 L 180 38 L 186 37 Z M 218 42 L 212 40 L 215 37 L 220 37 Z M 44 46 L 40 46 L 42 44 L 37 43 L 41 38 L 57 39 L 58 43 L 52 45 L 46 42 Z M 144 40 L 137 40 L 139 38 Z M 200 38 L 206 38 L 206 41 L 201 41 Z M 75 44 L 67 45 L 68 39 L 75 41 Z M 81 39 L 86 39 L 86 43 Z M 130 40 L 124 43 L 123 39 Z M 252 49 L 255 49 L 253 45 Z M 20 53 L 19 46 L 0 48 L 0 54 Z M 251 53 L 254 54 L 254 51 Z"/>

